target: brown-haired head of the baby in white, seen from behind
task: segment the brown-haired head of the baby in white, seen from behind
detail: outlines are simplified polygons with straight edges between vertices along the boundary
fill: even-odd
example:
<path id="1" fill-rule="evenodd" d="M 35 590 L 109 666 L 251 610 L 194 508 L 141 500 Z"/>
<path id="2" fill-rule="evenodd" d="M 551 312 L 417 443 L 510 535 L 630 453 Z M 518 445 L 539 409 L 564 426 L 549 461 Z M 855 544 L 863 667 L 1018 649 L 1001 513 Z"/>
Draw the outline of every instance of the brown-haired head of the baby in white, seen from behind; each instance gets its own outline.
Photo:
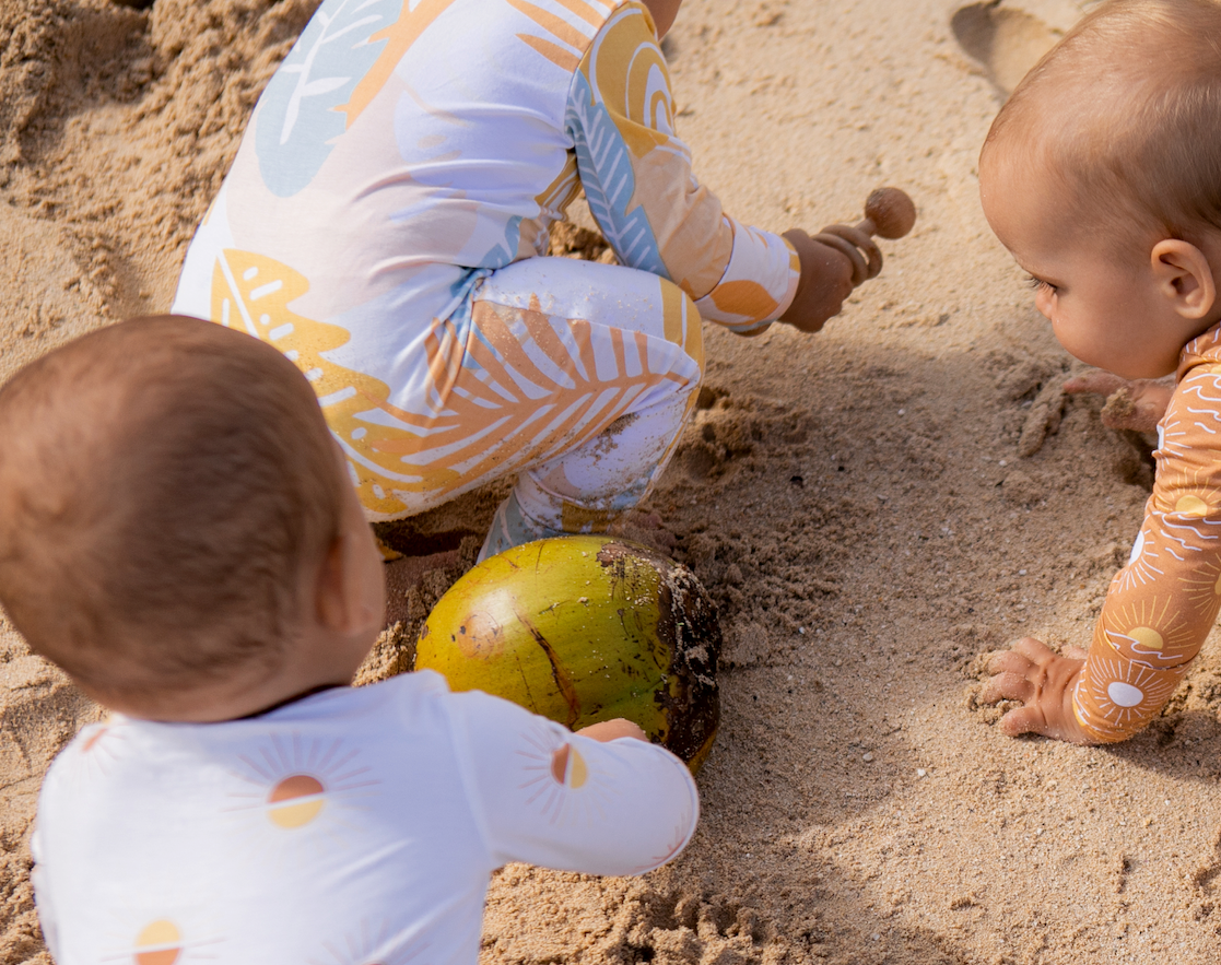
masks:
<path id="1" fill-rule="evenodd" d="M 309 384 L 210 322 L 140 318 L 0 388 L 0 604 L 103 704 L 223 720 L 346 683 L 379 555 Z"/>

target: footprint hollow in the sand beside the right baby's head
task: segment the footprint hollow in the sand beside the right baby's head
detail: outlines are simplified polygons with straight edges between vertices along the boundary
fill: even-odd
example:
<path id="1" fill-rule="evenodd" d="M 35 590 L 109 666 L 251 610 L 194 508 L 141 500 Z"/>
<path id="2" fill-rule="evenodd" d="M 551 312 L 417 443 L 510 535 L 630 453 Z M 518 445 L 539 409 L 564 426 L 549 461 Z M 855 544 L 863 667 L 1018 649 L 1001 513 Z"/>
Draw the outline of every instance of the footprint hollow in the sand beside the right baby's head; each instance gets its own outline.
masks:
<path id="1" fill-rule="evenodd" d="M 987 71 L 1005 94 L 1017 87 L 1061 33 L 1033 13 L 988 0 L 958 7 L 950 18 L 958 46 Z"/>

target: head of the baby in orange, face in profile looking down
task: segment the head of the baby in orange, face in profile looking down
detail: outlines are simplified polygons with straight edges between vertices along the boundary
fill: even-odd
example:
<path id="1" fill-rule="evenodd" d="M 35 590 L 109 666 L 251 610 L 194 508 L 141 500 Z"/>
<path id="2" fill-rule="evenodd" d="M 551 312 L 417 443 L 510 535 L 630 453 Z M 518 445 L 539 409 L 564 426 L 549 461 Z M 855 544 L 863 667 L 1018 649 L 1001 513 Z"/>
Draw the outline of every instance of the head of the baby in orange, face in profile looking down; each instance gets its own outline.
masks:
<path id="1" fill-rule="evenodd" d="M 984 212 L 1073 355 L 1158 377 L 1221 320 L 1219 131 L 1212 0 L 1103 4 L 998 115 Z"/>

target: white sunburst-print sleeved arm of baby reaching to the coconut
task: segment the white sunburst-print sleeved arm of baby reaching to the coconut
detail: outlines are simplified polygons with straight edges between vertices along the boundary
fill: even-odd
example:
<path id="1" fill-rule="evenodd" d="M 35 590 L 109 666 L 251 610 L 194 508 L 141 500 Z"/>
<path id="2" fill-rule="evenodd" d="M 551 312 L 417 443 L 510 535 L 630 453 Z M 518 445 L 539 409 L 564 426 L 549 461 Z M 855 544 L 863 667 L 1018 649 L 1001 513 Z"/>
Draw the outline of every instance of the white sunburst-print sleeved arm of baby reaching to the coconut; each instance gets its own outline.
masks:
<path id="1" fill-rule="evenodd" d="M 515 704 L 454 694 L 473 811 L 492 865 L 530 861 L 592 875 L 639 875 L 695 832 L 686 766 L 628 721 L 571 733 Z"/>

